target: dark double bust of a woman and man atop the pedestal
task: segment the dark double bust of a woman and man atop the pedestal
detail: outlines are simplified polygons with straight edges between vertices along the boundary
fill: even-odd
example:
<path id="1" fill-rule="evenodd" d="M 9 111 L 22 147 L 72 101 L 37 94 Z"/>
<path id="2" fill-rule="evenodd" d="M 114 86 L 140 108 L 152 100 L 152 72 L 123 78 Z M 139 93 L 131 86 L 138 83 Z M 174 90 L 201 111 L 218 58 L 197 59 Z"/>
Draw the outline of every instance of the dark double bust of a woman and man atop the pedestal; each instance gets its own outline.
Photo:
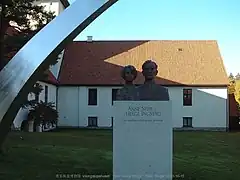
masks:
<path id="1" fill-rule="evenodd" d="M 145 78 L 144 84 L 135 86 L 133 81 L 137 77 L 134 66 L 128 65 L 122 69 L 121 76 L 125 85 L 117 92 L 117 101 L 169 101 L 168 89 L 155 83 L 158 73 L 158 65 L 147 60 L 142 65 L 142 74 Z"/>

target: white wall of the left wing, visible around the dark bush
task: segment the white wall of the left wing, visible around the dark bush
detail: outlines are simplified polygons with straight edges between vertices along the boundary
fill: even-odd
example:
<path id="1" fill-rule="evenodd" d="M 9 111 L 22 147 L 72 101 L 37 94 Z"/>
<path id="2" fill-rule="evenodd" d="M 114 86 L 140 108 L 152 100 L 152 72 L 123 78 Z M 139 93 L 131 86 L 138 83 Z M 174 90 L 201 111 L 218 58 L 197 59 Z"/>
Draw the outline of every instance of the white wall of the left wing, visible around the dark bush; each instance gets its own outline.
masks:
<path id="1" fill-rule="evenodd" d="M 54 102 L 56 105 L 56 86 L 51 85 L 51 84 L 47 84 L 47 83 L 43 83 L 43 82 L 38 82 L 39 84 L 41 84 L 43 86 L 43 91 L 41 92 L 41 94 L 39 95 L 39 100 L 44 101 L 45 100 L 45 85 L 48 86 L 48 102 Z M 33 94 L 29 94 L 28 95 L 28 100 L 33 100 L 35 99 L 35 95 Z M 15 128 L 20 128 L 21 127 L 21 123 L 23 120 L 27 119 L 27 115 L 28 115 L 28 110 L 27 109 L 20 109 L 18 111 L 18 114 L 16 116 L 16 118 L 13 121 L 14 127 Z"/>

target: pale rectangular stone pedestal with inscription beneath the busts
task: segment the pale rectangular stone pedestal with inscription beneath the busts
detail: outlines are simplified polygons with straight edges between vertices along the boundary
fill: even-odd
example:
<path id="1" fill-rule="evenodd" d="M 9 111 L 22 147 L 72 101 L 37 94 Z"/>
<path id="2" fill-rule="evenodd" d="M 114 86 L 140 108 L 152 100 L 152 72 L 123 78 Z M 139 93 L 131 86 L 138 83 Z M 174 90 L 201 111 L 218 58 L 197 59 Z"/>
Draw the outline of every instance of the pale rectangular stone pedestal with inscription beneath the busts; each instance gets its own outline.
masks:
<path id="1" fill-rule="evenodd" d="M 116 101 L 113 109 L 113 179 L 171 180 L 171 102 Z"/>

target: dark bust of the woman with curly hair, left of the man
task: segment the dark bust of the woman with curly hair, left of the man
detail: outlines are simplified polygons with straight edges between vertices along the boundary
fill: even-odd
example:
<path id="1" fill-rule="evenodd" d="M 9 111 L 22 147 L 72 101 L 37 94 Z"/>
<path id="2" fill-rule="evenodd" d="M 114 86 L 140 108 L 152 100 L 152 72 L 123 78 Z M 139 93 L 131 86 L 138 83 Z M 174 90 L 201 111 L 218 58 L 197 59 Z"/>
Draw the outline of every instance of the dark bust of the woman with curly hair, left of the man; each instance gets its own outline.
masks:
<path id="1" fill-rule="evenodd" d="M 136 100 L 136 87 L 133 84 L 133 81 L 137 77 L 137 70 L 134 66 L 128 65 L 122 69 L 121 72 L 122 78 L 125 80 L 125 85 L 122 89 L 119 89 L 117 92 L 116 100 Z"/>

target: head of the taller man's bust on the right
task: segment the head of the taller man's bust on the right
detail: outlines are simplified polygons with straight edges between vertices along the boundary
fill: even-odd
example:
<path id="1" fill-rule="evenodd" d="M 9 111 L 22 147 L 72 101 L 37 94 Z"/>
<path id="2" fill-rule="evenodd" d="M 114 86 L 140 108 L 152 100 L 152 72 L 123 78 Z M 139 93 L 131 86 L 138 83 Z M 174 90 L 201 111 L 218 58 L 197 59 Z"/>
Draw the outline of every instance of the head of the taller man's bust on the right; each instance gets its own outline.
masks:
<path id="1" fill-rule="evenodd" d="M 145 82 L 152 81 L 155 79 L 158 73 L 157 69 L 158 69 L 158 65 L 152 60 L 147 60 L 143 63 L 142 74 L 145 77 Z"/>

